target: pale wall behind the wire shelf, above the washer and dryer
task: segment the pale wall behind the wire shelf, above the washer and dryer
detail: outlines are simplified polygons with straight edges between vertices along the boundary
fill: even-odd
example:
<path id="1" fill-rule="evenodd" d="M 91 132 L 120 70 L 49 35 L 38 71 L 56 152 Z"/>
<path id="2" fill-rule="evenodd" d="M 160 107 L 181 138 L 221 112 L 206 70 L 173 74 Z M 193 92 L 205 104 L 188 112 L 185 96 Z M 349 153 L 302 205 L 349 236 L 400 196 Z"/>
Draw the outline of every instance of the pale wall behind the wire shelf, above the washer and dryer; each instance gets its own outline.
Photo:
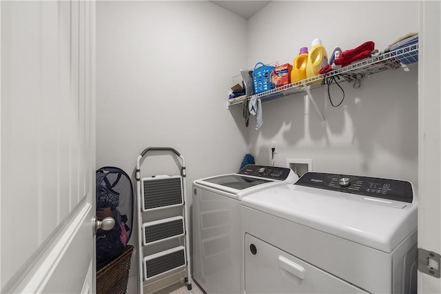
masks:
<path id="1" fill-rule="evenodd" d="M 315 19 L 313 21 L 312 19 Z M 374 41 L 384 50 L 407 32 L 418 31 L 418 1 L 272 1 L 247 21 L 247 67 L 258 61 L 292 63 L 300 47 L 320 38 L 330 55 Z M 271 36 L 269 38 L 269 36 Z M 325 116 L 305 114 L 305 94 L 263 104 L 263 126 L 249 128 L 249 150 L 269 164 L 271 141 L 278 141 L 276 165 L 287 158 L 312 159 L 313 169 L 418 181 L 418 67 L 362 80 L 360 89 L 342 84 L 345 101 L 329 104 L 327 91 L 312 93 Z M 331 86 L 334 104 L 342 98 Z M 254 126 L 252 117 L 250 125 Z"/>

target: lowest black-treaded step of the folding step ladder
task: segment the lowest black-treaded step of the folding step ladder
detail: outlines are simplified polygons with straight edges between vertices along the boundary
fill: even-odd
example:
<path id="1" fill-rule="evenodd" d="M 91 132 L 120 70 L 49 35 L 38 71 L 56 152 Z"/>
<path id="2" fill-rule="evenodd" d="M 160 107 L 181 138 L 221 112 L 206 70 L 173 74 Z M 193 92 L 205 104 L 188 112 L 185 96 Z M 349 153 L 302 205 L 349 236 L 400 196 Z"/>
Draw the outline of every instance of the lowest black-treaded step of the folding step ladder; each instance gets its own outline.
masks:
<path id="1" fill-rule="evenodd" d="M 177 268 L 183 268 L 186 263 L 184 246 L 148 255 L 144 257 L 144 280 L 149 280 Z"/>

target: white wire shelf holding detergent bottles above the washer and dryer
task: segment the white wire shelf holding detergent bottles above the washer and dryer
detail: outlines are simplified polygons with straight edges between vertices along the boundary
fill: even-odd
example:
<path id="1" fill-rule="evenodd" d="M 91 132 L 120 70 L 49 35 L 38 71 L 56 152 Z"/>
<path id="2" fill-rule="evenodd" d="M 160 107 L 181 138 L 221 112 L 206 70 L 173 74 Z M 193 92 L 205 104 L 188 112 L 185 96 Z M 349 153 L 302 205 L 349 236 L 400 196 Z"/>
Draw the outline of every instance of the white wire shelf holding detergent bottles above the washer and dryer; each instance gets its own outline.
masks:
<path id="1" fill-rule="evenodd" d="M 305 92 L 305 86 L 307 85 L 309 90 L 322 87 L 322 80 L 326 77 L 340 77 L 345 81 L 353 81 L 354 79 L 361 79 L 369 75 L 375 75 L 387 70 L 393 70 L 396 68 L 406 69 L 408 65 L 418 62 L 418 43 L 391 50 L 389 52 L 382 52 L 376 57 L 369 59 L 363 59 L 356 63 L 351 63 L 349 66 L 339 68 L 338 70 L 332 70 L 325 75 L 317 75 L 309 79 L 303 79 L 302 81 L 296 81 L 295 83 L 281 86 L 272 90 L 268 90 L 252 96 L 240 96 L 229 99 L 228 106 L 236 104 L 242 104 L 244 101 L 252 99 L 254 97 L 260 98 L 262 102 L 271 101 L 281 97 L 294 95 L 296 93 Z"/>

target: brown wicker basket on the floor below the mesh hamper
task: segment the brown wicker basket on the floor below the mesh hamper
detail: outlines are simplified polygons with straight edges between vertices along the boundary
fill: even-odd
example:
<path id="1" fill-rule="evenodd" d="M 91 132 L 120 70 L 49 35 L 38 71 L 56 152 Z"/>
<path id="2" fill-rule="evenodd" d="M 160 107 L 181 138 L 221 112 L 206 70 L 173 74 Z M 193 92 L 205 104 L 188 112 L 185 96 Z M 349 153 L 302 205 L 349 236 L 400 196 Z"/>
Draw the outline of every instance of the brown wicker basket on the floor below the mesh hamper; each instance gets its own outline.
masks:
<path id="1" fill-rule="evenodd" d="M 133 248 L 132 245 L 125 246 L 120 255 L 96 271 L 97 294 L 127 293 Z"/>

